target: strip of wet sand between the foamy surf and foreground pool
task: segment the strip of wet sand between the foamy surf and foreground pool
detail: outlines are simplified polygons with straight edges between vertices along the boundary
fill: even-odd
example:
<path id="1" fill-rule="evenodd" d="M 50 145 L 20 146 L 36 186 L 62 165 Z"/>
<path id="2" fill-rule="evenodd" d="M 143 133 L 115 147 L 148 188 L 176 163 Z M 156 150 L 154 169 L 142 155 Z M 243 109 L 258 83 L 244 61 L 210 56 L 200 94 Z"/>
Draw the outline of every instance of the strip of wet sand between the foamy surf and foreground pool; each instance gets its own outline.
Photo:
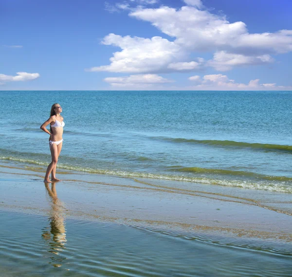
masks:
<path id="1" fill-rule="evenodd" d="M 1 209 L 50 213 L 52 197 L 41 179 L 42 169 L 37 168 L 37 171 L 11 164 L 0 167 Z M 238 195 L 238 191 L 243 190 L 241 192 L 248 195 L 251 190 L 199 184 L 195 184 L 196 190 L 190 190 L 180 188 L 181 182 L 153 182 L 72 171 L 62 172 L 59 177 L 63 181 L 55 183 L 56 197 L 62 203 L 66 218 L 155 227 L 180 233 L 292 242 L 290 215 L 271 210 L 264 202 L 261 204 L 258 200 L 230 193 L 234 191 L 234 195 Z M 223 194 L 222 190 L 227 190 L 228 194 Z M 261 191 L 258 198 L 263 194 Z M 270 194 L 266 192 L 265 195 Z M 291 206 L 290 203 L 282 206 Z"/>

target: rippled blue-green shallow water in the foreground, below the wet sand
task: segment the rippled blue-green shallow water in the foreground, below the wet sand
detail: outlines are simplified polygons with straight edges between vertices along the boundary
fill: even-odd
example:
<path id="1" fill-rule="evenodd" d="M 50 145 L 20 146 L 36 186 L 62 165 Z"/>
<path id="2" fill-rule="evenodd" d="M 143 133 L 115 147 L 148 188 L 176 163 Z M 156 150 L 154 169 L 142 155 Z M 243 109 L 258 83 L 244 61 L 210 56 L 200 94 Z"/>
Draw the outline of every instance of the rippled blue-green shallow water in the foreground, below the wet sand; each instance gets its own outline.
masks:
<path id="1" fill-rule="evenodd" d="M 291 276 L 273 253 L 127 225 L 1 211 L 2 276 Z"/>

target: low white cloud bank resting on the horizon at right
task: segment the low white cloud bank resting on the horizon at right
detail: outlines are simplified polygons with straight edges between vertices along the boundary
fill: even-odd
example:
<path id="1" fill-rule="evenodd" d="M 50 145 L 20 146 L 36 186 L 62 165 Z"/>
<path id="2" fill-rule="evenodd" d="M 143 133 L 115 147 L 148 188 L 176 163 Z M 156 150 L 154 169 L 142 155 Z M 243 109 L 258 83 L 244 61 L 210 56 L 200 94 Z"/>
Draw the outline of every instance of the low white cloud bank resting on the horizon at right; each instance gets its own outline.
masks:
<path id="1" fill-rule="evenodd" d="M 188 78 L 195 82 L 192 89 L 207 89 L 207 90 L 290 90 L 292 87 L 276 86 L 273 84 L 260 84 L 259 79 L 251 80 L 248 84 L 236 83 L 235 80 L 229 79 L 227 75 L 210 74 L 204 75 L 202 78 L 199 75 Z M 190 88 L 188 88 L 190 89 Z"/>

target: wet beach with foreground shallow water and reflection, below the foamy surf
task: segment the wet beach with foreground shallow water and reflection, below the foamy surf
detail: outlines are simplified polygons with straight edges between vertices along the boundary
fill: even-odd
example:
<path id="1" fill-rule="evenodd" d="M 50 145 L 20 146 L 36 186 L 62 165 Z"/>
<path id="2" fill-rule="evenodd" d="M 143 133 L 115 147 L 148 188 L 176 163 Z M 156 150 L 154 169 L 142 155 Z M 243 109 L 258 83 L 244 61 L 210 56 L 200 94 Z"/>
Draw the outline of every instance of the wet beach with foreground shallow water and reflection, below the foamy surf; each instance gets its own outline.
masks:
<path id="1" fill-rule="evenodd" d="M 292 217 L 267 197 L 43 171 L 1 164 L 3 276 L 291 275 Z"/>

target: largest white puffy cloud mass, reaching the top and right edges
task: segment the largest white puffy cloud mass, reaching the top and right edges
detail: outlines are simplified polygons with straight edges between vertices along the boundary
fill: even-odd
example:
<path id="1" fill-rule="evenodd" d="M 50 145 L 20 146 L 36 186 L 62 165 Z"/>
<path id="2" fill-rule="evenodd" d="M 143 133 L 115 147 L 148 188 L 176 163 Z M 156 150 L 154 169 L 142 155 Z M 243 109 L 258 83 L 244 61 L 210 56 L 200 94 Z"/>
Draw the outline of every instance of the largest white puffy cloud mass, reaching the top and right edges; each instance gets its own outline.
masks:
<path id="1" fill-rule="evenodd" d="M 109 65 L 89 71 L 166 73 L 206 67 L 226 71 L 270 64 L 272 55 L 292 51 L 292 30 L 250 34 L 244 22 L 229 22 L 224 15 L 205 9 L 201 0 L 183 0 L 185 5 L 179 9 L 145 6 L 157 2 L 125 0 L 114 8 L 129 10 L 130 17 L 149 22 L 171 39 L 107 35 L 102 43 L 121 51 L 113 54 Z M 190 58 L 198 52 L 212 53 L 213 59 L 200 62 Z"/>

